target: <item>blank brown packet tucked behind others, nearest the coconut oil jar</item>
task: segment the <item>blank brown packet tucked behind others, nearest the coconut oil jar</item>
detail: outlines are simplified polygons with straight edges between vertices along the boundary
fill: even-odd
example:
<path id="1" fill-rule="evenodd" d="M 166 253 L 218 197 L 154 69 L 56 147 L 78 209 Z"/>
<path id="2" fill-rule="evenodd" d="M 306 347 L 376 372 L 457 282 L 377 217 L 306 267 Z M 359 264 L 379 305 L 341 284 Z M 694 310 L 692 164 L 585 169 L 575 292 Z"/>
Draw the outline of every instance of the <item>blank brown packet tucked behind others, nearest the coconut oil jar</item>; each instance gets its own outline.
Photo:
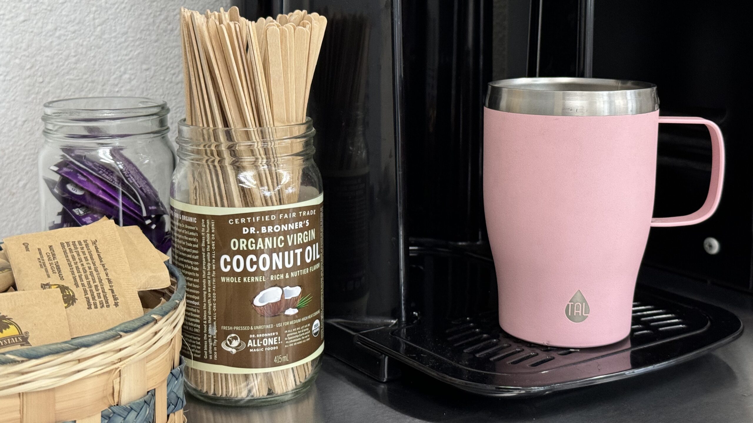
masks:
<path id="1" fill-rule="evenodd" d="M 136 291 L 169 287 L 170 275 L 164 263 L 167 256 L 154 248 L 139 227 L 117 227 L 117 230 L 123 241 Z"/>

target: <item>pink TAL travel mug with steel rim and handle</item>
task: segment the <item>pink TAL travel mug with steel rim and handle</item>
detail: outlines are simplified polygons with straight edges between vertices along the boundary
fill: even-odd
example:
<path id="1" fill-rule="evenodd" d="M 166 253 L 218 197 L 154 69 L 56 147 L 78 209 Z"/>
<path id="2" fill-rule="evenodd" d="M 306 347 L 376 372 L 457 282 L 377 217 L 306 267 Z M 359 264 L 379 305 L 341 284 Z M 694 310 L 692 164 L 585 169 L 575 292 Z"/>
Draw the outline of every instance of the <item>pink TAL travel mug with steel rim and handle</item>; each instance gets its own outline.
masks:
<path id="1" fill-rule="evenodd" d="M 651 217 L 659 123 L 702 124 L 711 133 L 709 194 L 691 215 Z M 569 348 L 626 337 L 650 227 L 697 224 L 717 208 L 718 126 L 659 116 L 654 84 L 519 78 L 489 84 L 483 132 L 502 329 Z"/>

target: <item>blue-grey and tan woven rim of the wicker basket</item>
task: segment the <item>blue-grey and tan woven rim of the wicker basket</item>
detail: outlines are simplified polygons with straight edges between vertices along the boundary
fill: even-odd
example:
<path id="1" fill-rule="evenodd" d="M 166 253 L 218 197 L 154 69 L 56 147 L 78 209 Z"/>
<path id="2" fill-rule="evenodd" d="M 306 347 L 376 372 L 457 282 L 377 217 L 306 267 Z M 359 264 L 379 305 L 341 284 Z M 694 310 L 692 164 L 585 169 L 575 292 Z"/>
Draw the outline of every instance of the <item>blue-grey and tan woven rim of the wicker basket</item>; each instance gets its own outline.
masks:
<path id="1" fill-rule="evenodd" d="M 178 308 L 178 305 L 185 298 L 186 291 L 186 279 L 181 271 L 168 262 L 165 262 L 165 266 L 167 266 L 170 275 L 175 276 L 175 278 L 178 280 L 178 284 L 175 287 L 175 293 L 172 294 L 169 301 L 162 304 L 161 306 L 155 307 L 148 314 L 142 315 L 141 317 L 135 318 L 130 321 L 124 321 L 123 323 L 118 324 L 115 327 L 111 327 L 108 330 L 103 330 L 102 332 L 98 333 L 92 333 L 90 335 L 79 336 L 78 338 L 71 339 L 69 341 L 55 342 L 53 344 L 38 345 L 14 351 L 2 352 L 0 353 L 0 366 L 4 364 L 18 364 L 26 360 L 34 360 L 37 358 L 47 357 L 47 355 L 55 355 L 62 352 L 75 351 L 78 348 L 91 347 L 110 339 L 119 338 L 125 333 L 136 332 L 136 330 L 145 327 L 147 324 L 151 324 L 157 321 L 157 318 L 154 316 L 159 316 L 160 318 L 165 317 L 170 312 L 173 312 Z"/>

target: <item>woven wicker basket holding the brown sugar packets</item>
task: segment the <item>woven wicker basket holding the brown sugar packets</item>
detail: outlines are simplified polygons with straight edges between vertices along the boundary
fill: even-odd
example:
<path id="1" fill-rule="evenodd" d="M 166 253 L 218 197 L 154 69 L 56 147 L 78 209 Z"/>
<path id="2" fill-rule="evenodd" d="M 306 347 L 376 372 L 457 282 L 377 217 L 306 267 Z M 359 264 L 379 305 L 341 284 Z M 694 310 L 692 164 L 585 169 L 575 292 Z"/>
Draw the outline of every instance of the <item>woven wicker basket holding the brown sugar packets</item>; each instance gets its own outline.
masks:
<path id="1" fill-rule="evenodd" d="M 185 279 L 111 330 L 0 354 L 0 423 L 182 423 Z"/>

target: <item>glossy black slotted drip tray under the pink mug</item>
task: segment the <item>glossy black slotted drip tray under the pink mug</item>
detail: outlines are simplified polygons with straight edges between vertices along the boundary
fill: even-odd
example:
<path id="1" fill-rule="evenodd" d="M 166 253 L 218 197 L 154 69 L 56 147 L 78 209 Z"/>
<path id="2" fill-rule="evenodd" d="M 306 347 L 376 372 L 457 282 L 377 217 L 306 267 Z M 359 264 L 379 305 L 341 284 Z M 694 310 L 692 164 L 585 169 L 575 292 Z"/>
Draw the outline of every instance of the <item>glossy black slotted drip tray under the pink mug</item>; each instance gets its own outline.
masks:
<path id="1" fill-rule="evenodd" d="M 703 355 L 742 333 L 732 313 L 657 288 L 639 285 L 634 301 L 630 336 L 597 348 L 555 348 L 516 339 L 500 329 L 493 311 L 419 317 L 404 327 L 359 333 L 356 342 L 465 391 L 508 397 L 648 373 Z"/>

